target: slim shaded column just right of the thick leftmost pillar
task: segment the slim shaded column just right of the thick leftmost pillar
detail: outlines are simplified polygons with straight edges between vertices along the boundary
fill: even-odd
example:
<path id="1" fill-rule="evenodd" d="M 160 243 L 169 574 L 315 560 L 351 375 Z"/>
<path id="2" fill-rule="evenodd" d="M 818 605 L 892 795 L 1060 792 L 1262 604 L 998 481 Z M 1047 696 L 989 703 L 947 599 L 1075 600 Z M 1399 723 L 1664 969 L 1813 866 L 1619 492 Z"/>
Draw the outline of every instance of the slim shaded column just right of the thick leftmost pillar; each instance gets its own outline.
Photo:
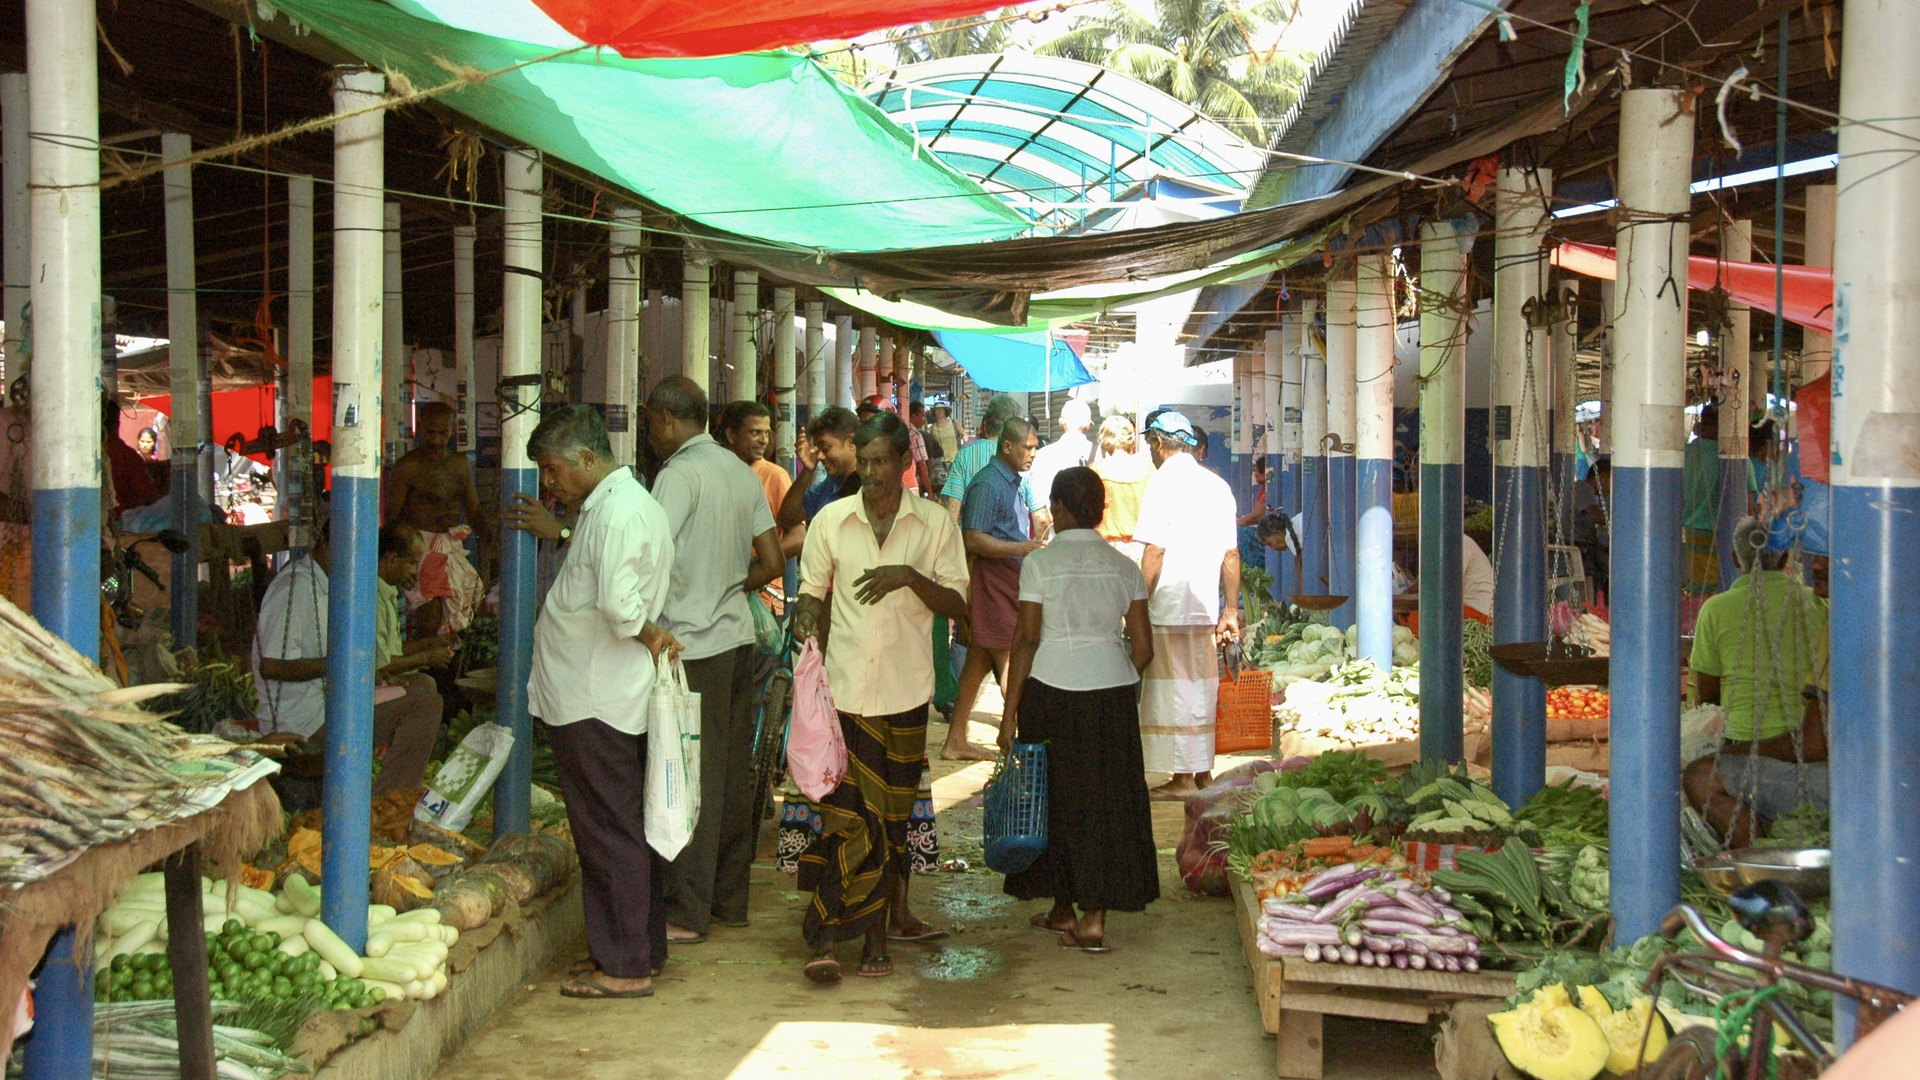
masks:
<path id="1" fill-rule="evenodd" d="M 163 161 L 194 152 L 184 135 L 161 135 Z M 200 455 L 207 419 L 200 411 L 200 298 L 194 294 L 194 167 L 167 165 L 161 175 L 167 219 L 167 371 L 173 417 L 167 423 L 173 527 L 186 534 L 186 550 L 173 553 L 175 588 L 167 590 L 167 617 L 177 648 L 200 644 Z M 35 306 L 38 311 L 38 306 Z M 12 327 L 12 323 L 8 323 Z M 13 356 L 12 352 L 8 356 Z"/>

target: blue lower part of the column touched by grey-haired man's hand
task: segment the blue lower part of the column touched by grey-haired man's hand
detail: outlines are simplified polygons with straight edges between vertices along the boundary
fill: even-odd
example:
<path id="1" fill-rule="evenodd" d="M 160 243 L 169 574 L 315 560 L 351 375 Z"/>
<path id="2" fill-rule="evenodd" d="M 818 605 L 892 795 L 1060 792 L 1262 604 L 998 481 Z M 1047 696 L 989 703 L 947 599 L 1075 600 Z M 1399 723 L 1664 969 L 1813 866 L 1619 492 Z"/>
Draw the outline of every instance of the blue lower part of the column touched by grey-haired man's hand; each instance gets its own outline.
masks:
<path id="1" fill-rule="evenodd" d="M 513 496 L 540 498 L 538 469 L 501 469 L 501 503 Z M 536 542 L 530 532 L 503 528 L 499 542 L 499 690 L 493 721 L 513 732 L 507 767 L 493 782 L 493 832 L 532 828 L 534 723 L 526 713 L 526 678 L 534 673 Z"/>

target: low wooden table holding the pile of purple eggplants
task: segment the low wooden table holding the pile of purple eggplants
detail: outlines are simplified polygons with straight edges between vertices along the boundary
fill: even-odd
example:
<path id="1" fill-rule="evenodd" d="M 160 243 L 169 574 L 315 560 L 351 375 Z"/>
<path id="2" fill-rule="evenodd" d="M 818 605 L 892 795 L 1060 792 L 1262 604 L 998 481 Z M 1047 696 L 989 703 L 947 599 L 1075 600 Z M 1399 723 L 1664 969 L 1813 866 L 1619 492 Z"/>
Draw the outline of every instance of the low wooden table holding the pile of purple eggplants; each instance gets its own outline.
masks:
<path id="1" fill-rule="evenodd" d="M 1513 994 L 1513 976 L 1505 972 L 1448 974 L 1279 961 L 1260 951 L 1260 897 L 1250 882 L 1233 882 L 1233 907 L 1260 1001 L 1260 1026 L 1275 1036 L 1275 1074 L 1286 1080 L 1321 1080 L 1321 1020 L 1327 1015 L 1425 1024 L 1455 1001 Z"/>

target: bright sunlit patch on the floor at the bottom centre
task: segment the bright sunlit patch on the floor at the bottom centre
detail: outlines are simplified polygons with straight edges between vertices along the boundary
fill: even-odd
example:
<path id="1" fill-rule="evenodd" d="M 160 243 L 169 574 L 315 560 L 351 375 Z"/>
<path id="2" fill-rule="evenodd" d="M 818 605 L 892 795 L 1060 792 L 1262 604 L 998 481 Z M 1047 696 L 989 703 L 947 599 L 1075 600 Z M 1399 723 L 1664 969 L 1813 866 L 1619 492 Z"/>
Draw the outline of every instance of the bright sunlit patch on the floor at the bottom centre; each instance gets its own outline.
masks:
<path id="1" fill-rule="evenodd" d="M 1112 1080 L 1112 1024 L 776 1024 L 728 1080 Z"/>

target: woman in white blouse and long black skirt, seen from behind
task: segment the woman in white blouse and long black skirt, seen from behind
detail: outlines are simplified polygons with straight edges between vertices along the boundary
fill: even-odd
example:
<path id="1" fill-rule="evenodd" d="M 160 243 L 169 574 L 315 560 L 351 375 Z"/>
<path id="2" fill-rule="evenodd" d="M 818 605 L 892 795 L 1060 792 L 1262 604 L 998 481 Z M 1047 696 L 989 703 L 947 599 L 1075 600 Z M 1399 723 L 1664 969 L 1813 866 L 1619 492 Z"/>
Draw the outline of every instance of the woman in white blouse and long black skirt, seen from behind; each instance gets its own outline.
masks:
<path id="1" fill-rule="evenodd" d="M 1020 899 L 1050 897 L 1033 926 L 1068 949 L 1110 951 L 1108 911 L 1160 897 L 1140 761 L 1140 669 L 1154 659 L 1140 567 L 1094 527 L 1106 488 L 1092 469 L 1054 477 L 1054 540 L 1020 569 L 1020 623 L 1000 749 L 1046 744 L 1046 851 L 1008 874 Z M 1075 915 L 1075 907 L 1079 915 Z"/>

